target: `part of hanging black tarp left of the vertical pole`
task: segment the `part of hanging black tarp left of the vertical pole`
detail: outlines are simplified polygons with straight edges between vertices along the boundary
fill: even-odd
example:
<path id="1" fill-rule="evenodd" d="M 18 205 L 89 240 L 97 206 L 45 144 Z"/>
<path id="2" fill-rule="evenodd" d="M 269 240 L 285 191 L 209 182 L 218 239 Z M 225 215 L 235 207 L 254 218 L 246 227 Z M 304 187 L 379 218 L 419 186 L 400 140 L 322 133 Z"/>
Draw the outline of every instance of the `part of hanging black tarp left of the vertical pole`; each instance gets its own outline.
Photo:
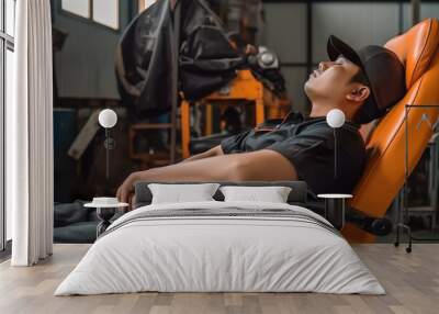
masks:
<path id="1" fill-rule="evenodd" d="M 137 15 L 116 51 L 117 87 L 123 103 L 137 113 L 159 114 L 171 106 L 172 24 L 169 0 Z"/>

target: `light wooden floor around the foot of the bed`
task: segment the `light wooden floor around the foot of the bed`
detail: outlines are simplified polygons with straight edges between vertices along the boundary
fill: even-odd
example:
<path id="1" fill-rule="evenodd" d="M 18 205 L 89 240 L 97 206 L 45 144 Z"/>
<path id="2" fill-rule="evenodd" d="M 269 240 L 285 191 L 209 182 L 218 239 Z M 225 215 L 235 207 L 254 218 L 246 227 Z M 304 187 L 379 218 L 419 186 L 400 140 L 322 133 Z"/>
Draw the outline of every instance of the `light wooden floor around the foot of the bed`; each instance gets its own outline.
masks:
<path id="1" fill-rule="evenodd" d="M 32 268 L 0 265 L 0 313 L 439 313 L 439 244 L 417 244 L 412 255 L 391 244 L 356 246 L 386 295 L 317 293 L 136 293 L 53 296 L 88 249 L 55 245 L 54 256 Z"/>

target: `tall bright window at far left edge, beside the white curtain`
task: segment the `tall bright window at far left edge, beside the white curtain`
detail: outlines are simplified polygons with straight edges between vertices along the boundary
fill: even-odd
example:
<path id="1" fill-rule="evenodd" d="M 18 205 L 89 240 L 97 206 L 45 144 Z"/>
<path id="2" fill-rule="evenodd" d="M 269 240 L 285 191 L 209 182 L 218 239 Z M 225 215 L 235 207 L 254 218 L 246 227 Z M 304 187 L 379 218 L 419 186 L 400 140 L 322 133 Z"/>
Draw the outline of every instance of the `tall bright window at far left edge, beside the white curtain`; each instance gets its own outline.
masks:
<path id="1" fill-rule="evenodd" d="M 12 102 L 15 0 L 0 0 L 0 250 L 12 238 L 11 213 L 4 206 L 4 114 Z"/>

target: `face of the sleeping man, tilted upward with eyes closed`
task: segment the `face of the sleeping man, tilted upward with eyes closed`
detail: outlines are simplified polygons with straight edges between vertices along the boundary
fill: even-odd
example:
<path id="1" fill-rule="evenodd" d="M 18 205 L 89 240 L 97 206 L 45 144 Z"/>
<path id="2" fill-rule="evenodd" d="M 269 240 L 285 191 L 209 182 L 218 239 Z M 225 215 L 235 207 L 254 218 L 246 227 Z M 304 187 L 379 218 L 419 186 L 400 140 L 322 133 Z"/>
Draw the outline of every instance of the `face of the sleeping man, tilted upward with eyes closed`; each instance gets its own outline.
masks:
<path id="1" fill-rule="evenodd" d="M 351 78 L 360 67 L 339 56 L 335 61 L 323 61 L 305 83 L 305 92 L 312 102 L 345 103 L 346 96 L 354 88 Z"/>

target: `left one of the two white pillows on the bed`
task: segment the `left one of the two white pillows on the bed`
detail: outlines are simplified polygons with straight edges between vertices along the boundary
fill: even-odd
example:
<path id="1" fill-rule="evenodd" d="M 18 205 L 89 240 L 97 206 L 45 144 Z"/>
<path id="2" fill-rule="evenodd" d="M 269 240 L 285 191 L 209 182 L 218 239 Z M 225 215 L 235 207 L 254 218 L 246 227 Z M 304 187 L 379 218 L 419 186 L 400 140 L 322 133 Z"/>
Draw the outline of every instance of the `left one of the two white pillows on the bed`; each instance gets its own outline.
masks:
<path id="1" fill-rule="evenodd" d="M 151 204 L 214 201 L 212 197 L 218 187 L 218 183 L 148 184 L 153 193 Z"/>

